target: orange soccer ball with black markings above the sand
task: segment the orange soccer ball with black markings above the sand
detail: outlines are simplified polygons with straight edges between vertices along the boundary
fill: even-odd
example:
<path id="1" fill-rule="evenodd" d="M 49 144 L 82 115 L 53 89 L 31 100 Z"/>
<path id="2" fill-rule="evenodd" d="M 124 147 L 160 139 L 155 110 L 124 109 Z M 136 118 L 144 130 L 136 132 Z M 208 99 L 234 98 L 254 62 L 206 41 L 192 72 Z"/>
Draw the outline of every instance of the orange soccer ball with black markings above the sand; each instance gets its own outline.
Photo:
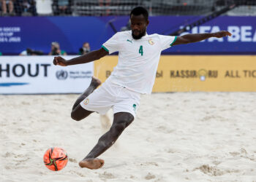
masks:
<path id="1" fill-rule="evenodd" d="M 59 147 L 52 147 L 45 151 L 43 159 L 49 170 L 62 170 L 68 161 L 67 152 Z"/>

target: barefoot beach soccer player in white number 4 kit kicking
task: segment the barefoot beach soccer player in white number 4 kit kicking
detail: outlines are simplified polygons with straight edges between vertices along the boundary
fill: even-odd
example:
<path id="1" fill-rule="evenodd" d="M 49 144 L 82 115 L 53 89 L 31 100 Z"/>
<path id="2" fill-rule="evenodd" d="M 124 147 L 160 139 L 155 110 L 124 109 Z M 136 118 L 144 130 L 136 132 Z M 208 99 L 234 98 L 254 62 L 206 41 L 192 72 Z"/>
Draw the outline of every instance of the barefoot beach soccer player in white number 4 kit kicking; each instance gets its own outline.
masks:
<path id="1" fill-rule="evenodd" d="M 99 50 L 71 60 L 64 60 L 61 57 L 55 57 L 53 60 L 54 65 L 71 66 L 89 63 L 118 52 L 118 64 L 102 87 L 97 89 L 101 82 L 93 76 L 91 84 L 72 108 L 71 116 L 76 121 L 86 118 L 93 112 L 105 114 L 113 108 L 113 124 L 110 130 L 99 138 L 96 146 L 79 162 L 80 167 L 98 169 L 104 165 L 104 160 L 97 157 L 109 149 L 135 119 L 140 106 L 140 95 L 151 93 L 162 50 L 211 37 L 231 36 L 228 31 L 192 33 L 184 36 L 163 36 L 157 33 L 148 35 L 148 11 L 143 7 L 132 9 L 130 21 L 132 31 L 114 34 Z"/>

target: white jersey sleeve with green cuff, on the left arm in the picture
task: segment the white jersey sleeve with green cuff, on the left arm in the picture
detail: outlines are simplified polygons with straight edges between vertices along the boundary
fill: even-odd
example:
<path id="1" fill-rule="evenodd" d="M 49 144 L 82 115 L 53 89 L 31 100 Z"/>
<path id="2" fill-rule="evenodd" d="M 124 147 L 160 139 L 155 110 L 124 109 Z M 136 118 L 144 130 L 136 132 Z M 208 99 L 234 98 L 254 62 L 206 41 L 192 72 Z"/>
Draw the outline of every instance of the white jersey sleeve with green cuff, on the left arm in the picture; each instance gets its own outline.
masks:
<path id="1" fill-rule="evenodd" d="M 113 52 L 119 51 L 119 33 L 116 33 L 113 35 L 108 41 L 106 41 L 104 44 L 102 44 L 102 48 L 106 51 L 108 51 L 109 54 Z"/>

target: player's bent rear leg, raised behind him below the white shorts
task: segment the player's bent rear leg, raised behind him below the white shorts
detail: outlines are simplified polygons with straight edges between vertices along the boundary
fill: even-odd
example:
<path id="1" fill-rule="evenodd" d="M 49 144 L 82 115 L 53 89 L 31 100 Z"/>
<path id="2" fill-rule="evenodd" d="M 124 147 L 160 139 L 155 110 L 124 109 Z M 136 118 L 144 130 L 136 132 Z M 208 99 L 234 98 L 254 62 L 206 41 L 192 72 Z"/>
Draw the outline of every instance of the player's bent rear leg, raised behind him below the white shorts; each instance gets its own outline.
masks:
<path id="1" fill-rule="evenodd" d="M 93 111 L 87 111 L 85 108 L 80 106 L 80 102 L 82 102 L 92 92 L 94 92 L 94 90 L 97 89 L 97 87 L 99 87 L 101 83 L 102 82 L 100 82 L 100 80 L 97 79 L 96 77 L 94 76 L 91 77 L 91 84 L 86 89 L 86 91 L 83 92 L 83 94 L 80 95 L 80 97 L 75 101 L 74 106 L 72 107 L 72 112 L 71 112 L 72 119 L 74 119 L 75 121 L 80 121 L 81 119 L 84 119 L 87 116 L 89 116 L 91 113 L 93 113 Z"/>

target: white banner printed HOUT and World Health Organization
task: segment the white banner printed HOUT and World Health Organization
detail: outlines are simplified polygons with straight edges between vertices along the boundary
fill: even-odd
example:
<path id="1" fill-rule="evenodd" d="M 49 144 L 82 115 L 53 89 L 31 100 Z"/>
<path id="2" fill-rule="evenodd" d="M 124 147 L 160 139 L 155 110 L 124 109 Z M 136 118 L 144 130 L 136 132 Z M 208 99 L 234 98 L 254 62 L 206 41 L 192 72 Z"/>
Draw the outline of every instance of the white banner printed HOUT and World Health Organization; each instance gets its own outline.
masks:
<path id="1" fill-rule="evenodd" d="M 54 66 L 53 56 L 2 56 L 0 94 L 80 93 L 93 74 L 93 63 Z"/>

